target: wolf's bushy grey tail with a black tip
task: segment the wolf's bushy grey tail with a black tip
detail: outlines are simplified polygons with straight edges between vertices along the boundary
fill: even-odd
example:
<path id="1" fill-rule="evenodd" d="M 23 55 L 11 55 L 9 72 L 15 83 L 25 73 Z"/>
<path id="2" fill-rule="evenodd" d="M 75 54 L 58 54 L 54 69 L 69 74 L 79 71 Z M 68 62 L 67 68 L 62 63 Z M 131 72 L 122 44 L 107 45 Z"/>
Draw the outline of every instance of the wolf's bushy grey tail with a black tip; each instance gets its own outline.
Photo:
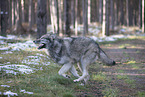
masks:
<path id="1" fill-rule="evenodd" d="M 108 66 L 113 66 L 116 64 L 115 61 L 110 59 L 101 48 L 100 48 L 99 58 L 103 63 L 105 63 Z"/>

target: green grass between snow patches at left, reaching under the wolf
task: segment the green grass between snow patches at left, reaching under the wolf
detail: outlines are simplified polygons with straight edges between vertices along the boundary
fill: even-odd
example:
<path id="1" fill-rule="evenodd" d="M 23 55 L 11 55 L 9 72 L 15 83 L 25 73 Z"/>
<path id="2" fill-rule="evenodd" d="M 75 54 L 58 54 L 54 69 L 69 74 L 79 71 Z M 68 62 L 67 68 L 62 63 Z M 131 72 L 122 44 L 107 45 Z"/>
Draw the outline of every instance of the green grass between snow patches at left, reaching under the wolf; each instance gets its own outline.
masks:
<path id="1" fill-rule="evenodd" d="M 22 64 L 27 56 L 36 56 L 37 51 L 14 51 L 11 54 L 1 55 L 3 61 L 10 62 L 9 64 Z M 40 52 L 39 52 L 40 53 Z M 43 54 L 43 52 L 41 52 Z M 12 91 L 22 97 L 75 97 L 75 89 L 80 88 L 79 83 L 73 83 L 73 79 L 66 79 L 58 75 L 60 66 L 54 64 L 49 59 L 41 57 L 40 65 L 27 64 L 30 67 L 36 68 L 31 74 L 9 74 L 6 71 L 0 71 L 0 85 L 9 85 L 9 88 L 0 87 L 1 92 Z M 42 62 L 50 61 L 50 65 L 41 65 Z M 41 68 L 41 69 L 39 69 Z M 8 83 L 8 81 L 11 81 Z M 27 94 L 20 92 L 21 90 L 33 92 Z M 85 89 L 81 88 L 81 89 Z"/>

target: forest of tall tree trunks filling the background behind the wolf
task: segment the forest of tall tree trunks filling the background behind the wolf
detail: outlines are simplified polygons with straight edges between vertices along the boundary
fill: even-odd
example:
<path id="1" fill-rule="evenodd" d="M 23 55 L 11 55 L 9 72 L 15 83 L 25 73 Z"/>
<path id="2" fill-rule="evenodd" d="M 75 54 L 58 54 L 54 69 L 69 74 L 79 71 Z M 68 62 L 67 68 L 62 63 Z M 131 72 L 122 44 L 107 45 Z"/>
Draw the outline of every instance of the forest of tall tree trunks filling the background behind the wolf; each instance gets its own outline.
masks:
<path id="1" fill-rule="evenodd" d="M 137 26 L 144 33 L 144 0 L 1 0 L 0 35 L 47 33 L 90 34 L 100 26 L 102 36 L 116 34 L 116 26 Z M 83 31 L 78 32 L 78 25 Z M 72 30 L 73 29 L 73 30 Z"/>

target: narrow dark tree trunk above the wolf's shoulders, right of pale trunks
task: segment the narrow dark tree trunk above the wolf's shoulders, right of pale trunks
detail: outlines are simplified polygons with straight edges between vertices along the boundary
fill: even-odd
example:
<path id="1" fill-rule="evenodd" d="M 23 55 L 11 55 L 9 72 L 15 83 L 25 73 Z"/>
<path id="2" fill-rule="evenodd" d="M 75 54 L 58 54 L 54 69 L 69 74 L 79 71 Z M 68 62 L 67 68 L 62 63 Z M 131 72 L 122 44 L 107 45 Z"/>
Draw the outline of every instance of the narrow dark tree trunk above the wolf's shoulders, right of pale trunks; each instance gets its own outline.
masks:
<path id="1" fill-rule="evenodd" d="M 64 21 L 65 21 L 65 34 L 67 36 L 71 36 L 70 33 L 70 13 L 69 13 L 69 1 L 68 0 L 64 0 Z"/>

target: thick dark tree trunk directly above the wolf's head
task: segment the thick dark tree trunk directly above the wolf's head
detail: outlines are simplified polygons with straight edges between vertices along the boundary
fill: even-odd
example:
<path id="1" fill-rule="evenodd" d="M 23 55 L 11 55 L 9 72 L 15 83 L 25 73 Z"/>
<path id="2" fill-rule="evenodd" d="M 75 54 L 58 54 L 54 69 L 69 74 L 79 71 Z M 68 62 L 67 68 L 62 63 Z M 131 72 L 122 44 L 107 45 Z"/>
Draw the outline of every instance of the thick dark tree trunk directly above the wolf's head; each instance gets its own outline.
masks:
<path id="1" fill-rule="evenodd" d="M 37 38 L 47 32 L 46 0 L 37 1 Z"/>

